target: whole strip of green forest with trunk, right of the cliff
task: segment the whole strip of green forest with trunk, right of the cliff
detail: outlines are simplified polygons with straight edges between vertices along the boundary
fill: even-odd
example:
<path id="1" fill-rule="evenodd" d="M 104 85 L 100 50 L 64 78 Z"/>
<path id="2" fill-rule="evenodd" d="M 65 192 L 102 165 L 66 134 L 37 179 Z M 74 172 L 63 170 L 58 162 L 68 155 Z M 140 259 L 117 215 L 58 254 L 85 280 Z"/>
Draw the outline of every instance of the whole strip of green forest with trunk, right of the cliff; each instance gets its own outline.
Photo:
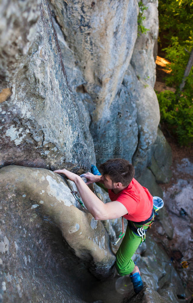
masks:
<path id="1" fill-rule="evenodd" d="M 161 125 L 179 145 L 193 143 L 193 1 L 159 0 L 158 55 L 168 59 L 163 79 L 172 90 L 156 92 Z"/>

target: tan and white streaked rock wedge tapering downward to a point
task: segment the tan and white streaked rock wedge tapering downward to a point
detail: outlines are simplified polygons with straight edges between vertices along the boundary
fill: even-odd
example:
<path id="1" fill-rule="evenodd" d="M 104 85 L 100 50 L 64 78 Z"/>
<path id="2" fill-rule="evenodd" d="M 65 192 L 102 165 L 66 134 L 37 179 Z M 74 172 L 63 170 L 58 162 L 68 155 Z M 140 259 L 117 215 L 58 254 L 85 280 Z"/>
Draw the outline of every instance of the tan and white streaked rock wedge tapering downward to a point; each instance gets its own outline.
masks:
<path id="1" fill-rule="evenodd" d="M 96 103 L 95 116 L 101 118 L 121 85 L 133 53 L 137 2 L 52 0 L 51 3 L 66 43 L 76 56 L 76 65 L 83 73 L 85 90 Z"/>

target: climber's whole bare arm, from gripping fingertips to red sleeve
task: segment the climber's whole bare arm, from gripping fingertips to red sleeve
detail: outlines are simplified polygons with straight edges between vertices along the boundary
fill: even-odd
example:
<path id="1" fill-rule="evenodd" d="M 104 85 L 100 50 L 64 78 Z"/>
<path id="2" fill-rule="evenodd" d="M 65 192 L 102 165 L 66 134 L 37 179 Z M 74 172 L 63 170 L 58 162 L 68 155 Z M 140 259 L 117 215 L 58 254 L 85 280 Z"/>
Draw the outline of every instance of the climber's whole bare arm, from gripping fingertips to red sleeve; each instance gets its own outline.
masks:
<path id="1" fill-rule="evenodd" d="M 104 204 L 85 184 L 80 176 L 66 169 L 54 171 L 66 175 L 71 181 L 74 181 L 88 211 L 96 220 L 107 220 L 119 218 L 128 213 L 127 208 L 118 201 L 112 201 Z"/>

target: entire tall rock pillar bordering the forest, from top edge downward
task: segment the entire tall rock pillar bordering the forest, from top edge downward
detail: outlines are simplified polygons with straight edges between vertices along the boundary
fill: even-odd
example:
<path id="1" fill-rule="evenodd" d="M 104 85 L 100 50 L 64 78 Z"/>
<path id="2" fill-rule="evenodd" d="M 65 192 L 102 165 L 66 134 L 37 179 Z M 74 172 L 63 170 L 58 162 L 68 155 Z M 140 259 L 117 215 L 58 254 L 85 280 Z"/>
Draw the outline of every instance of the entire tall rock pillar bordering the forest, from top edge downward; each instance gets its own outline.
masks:
<path id="1" fill-rule="evenodd" d="M 157 137 L 159 105 L 153 90 L 156 80 L 156 64 L 153 49 L 158 35 L 158 1 L 143 1 L 147 10 L 143 22 L 146 34 L 137 37 L 130 65 L 124 77 L 124 85 L 133 94 L 137 106 L 138 145 L 133 155 L 136 177 L 142 175 L 151 158 L 151 146 Z"/>

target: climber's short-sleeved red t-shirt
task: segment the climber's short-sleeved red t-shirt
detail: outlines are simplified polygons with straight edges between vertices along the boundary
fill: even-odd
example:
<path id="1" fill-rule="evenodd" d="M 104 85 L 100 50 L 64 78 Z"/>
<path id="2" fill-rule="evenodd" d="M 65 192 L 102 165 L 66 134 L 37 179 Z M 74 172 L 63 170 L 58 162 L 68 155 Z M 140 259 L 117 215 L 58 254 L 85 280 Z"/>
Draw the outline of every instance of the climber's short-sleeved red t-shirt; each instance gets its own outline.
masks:
<path id="1" fill-rule="evenodd" d="M 141 222 L 148 219 L 153 209 L 153 197 L 147 188 L 141 186 L 133 178 L 131 183 L 118 194 L 109 189 L 109 198 L 111 201 L 121 202 L 128 211 L 123 217 L 134 222 Z"/>

